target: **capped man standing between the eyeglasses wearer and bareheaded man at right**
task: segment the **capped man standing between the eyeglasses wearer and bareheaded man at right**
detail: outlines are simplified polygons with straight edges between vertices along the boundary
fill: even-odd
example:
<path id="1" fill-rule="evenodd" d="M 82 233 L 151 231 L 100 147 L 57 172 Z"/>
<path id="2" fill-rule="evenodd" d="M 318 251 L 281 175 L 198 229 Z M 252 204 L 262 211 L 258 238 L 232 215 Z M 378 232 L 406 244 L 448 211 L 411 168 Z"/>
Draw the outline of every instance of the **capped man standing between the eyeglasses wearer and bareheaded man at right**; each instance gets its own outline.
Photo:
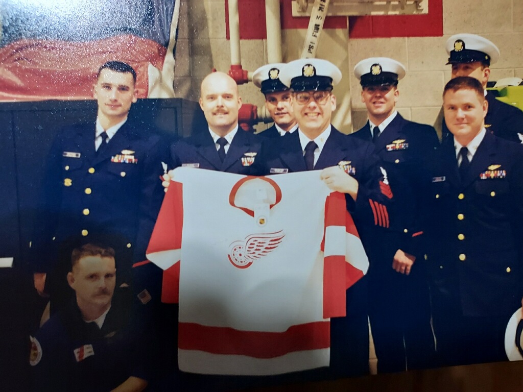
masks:
<path id="1" fill-rule="evenodd" d="M 405 120 L 396 111 L 398 80 L 405 67 L 371 57 L 354 68 L 369 121 L 354 137 L 372 142 L 394 195 L 391 227 L 370 247 L 369 317 L 378 371 L 423 368 L 434 358 L 425 249 L 418 189 L 426 179 L 423 158 L 439 146 L 433 127 Z M 377 252 L 374 249 L 379 250 Z"/>

